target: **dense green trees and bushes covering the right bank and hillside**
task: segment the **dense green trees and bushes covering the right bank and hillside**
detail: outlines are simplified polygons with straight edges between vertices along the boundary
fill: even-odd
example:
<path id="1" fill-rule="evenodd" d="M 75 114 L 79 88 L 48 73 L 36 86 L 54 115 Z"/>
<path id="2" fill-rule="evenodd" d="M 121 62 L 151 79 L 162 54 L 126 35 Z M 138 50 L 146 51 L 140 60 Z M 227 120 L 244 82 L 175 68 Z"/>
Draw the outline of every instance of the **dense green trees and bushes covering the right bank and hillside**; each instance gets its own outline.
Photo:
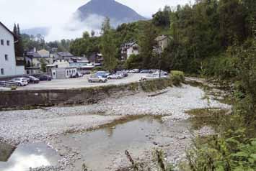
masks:
<path id="1" fill-rule="evenodd" d="M 182 70 L 232 85 L 231 115 L 219 121 L 217 135 L 196 143 L 187 153 L 190 170 L 256 169 L 255 9 L 255 1 L 250 0 L 202 0 L 175 10 L 166 7 L 148 24 L 157 34 L 172 37 L 161 57 L 164 70 Z M 143 54 L 134 56 L 126 65 L 159 64 L 154 55 L 146 65 L 143 59 Z"/>

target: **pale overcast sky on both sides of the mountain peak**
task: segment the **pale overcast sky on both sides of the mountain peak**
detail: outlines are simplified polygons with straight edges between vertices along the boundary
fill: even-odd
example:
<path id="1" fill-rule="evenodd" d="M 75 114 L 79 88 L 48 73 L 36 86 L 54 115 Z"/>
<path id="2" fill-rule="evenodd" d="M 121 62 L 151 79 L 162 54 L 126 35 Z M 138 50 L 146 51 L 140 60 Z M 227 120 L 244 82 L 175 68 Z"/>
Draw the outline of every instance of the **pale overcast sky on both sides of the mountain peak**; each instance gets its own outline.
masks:
<path id="1" fill-rule="evenodd" d="M 54 27 L 60 32 L 61 27 L 70 23 L 72 14 L 89 0 L 0 0 L 0 22 L 12 29 L 19 23 L 22 29 L 32 27 Z M 104 0 L 102 0 L 104 1 Z M 151 17 L 165 5 L 189 3 L 189 0 L 116 0 L 125 4 L 144 17 Z M 76 25 L 76 24 L 74 24 Z M 58 28 L 57 28 L 58 27 Z M 89 28 L 84 28 L 88 29 Z M 60 39 L 49 37 L 49 40 Z"/>

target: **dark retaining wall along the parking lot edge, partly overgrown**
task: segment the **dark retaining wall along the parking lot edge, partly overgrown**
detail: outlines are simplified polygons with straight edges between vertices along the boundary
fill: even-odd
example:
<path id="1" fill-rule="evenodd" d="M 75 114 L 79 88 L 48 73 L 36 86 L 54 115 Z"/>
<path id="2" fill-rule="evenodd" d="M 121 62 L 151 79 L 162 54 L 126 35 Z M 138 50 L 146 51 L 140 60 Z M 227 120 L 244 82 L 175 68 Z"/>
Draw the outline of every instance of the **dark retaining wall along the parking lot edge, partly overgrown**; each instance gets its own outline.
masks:
<path id="1" fill-rule="evenodd" d="M 140 91 L 156 91 L 167 88 L 168 79 L 150 80 L 144 83 L 129 83 L 120 86 L 102 86 L 69 90 L 0 91 L 0 110 L 31 106 L 65 106 L 97 103 L 108 97 L 119 98 Z"/>

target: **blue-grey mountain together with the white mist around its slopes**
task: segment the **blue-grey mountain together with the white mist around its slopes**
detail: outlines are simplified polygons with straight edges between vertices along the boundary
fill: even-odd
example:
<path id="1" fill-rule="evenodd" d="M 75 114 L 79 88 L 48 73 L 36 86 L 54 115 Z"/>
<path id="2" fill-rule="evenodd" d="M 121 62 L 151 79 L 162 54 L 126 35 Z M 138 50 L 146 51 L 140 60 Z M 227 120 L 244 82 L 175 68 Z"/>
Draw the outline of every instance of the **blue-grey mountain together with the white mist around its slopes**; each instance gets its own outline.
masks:
<path id="1" fill-rule="evenodd" d="M 112 27 L 119 24 L 146 20 L 128 6 L 114 0 L 91 0 L 87 4 L 71 14 L 69 19 L 63 19 L 63 23 L 50 24 L 48 27 L 35 27 L 23 29 L 22 33 L 37 35 L 41 34 L 46 41 L 75 39 L 81 37 L 84 31 L 94 30 L 100 35 L 100 29 L 105 17 L 110 18 Z M 62 21 L 62 20 L 61 20 Z"/>

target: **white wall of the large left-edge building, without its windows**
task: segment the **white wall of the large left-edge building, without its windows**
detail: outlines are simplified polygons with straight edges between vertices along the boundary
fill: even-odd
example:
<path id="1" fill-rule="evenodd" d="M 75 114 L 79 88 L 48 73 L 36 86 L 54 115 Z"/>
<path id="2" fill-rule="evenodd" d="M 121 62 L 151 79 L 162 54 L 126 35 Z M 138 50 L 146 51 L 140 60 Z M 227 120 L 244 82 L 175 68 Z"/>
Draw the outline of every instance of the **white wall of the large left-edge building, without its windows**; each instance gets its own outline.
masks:
<path id="1" fill-rule="evenodd" d="M 1 40 L 4 40 L 4 45 L 1 45 Z M 9 46 L 6 41 L 9 41 Z M 5 59 L 8 55 L 8 60 Z M 4 74 L 1 73 L 4 71 Z M 14 52 L 14 37 L 3 26 L 0 25 L 0 77 L 17 75 L 16 73 L 16 59 Z"/>

